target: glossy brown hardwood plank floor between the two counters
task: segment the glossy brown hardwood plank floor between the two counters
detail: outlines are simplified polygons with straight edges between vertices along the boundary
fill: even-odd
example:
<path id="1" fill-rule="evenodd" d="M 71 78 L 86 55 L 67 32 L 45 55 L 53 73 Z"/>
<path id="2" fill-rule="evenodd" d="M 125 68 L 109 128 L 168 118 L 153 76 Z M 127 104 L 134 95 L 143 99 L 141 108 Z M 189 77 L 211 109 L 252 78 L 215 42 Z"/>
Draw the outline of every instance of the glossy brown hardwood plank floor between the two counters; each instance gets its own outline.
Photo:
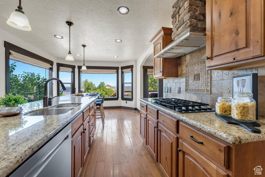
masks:
<path id="1" fill-rule="evenodd" d="M 105 109 L 105 127 L 96 119 L 96 135 L 81 177 L 162 176 L 140 139 L 137 111 Z"/>

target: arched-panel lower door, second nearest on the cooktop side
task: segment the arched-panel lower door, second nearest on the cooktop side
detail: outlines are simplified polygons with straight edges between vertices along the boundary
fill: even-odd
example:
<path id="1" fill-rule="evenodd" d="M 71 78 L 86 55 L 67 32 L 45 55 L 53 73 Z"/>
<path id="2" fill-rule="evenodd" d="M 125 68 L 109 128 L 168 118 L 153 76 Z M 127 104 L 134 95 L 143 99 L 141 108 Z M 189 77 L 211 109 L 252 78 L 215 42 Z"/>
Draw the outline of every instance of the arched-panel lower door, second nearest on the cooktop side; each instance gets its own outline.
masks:
<path id="1" fill-rule="evenodd" d="M 177 175 L 178 137 L 158 123 L 158 165 L 165 176 Z"/>

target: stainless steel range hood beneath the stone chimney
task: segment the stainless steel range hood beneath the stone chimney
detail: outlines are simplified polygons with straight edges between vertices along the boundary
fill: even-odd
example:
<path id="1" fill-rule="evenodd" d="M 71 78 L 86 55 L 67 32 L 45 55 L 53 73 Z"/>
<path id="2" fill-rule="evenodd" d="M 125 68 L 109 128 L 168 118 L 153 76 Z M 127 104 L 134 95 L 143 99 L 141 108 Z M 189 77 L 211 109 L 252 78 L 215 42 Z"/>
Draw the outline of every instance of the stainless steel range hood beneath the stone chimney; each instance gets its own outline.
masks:
<path id="1" fill-rule="evenodd" d="M 206 46 L 205 31 L 197 29 L 187 29 L 177 36 L 176 40 L 171 42 L 154 58 L 179 58 L 189 53 L 195 52 Z"/>

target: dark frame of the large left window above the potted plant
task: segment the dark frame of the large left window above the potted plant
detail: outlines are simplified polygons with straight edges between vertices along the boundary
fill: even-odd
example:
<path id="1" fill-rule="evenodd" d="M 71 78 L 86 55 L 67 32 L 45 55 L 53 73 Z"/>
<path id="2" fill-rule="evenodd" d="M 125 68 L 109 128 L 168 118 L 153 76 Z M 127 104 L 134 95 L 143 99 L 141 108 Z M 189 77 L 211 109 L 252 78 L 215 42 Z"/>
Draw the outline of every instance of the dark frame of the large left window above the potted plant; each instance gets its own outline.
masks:
<path id="1" fill-rule="evenodd" d="M 5 48 L 6 48 L 6 94 L 10 93 L 10 77 L 9 77 L 9 74 L 10 74 L 10 70 L 9 70 L 9 65 L 10 65 L 10 50 L 14 51 L 14 52 L 17 52 L 17 53 L 20 53 L 22 55 L 25 55 L 27 57 L 30 57 L 30 58 L 33 58 L 33 59 L 36 59 L 38 61 L 42 61 L 44 63 L 48 63 L 48 64 L 51 64 L 52 67 L 50 67 L 49 69 L 49 78 L 52 78 L 53 77 L 53 64 L 54 62 L 47 59 L 47 58 L 44 58 L 40 55 L 37 55 L 35 53 L 32 53 L 28 50 L 25 50 L 19 46 L 16 46 L 14 44 L 11 44 L 7 41 L 5 41 Z M 50 94 L 49 94 L 49 97 L 52 97 L 53 96 L 53 82 L 50 82 L 50 87 L 49 87 L 49 90 L 50 90 Z M 43 95 L 44 96 L 44 95 Z"/>

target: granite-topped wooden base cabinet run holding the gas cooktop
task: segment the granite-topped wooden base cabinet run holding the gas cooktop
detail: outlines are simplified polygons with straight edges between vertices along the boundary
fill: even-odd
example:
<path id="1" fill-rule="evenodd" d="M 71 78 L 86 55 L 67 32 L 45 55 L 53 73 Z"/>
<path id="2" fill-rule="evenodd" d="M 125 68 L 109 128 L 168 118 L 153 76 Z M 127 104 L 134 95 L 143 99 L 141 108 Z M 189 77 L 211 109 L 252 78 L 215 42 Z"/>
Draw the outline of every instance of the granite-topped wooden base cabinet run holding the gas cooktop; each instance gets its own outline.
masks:
<path id="1" fill-rule="evenodd" d="M 149 100 L 150 99 L 150 100 Z M 255 176 L 265 166 L 261 133 L 227 124 L 215 112 L 178 113 L 140 98 L 140 137 L 165 176 Z"/>

